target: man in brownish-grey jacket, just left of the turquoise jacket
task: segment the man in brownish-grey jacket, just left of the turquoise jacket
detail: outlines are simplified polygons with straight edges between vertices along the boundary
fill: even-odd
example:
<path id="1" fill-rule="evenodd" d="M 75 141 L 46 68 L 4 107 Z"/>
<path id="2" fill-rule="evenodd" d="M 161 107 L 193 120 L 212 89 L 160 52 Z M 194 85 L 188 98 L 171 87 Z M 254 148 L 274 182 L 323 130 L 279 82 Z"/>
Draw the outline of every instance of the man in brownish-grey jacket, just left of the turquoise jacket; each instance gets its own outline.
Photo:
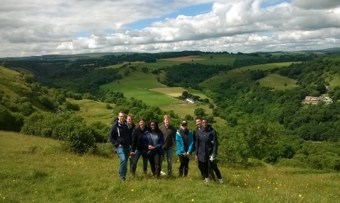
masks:
<path id="1" fill-rule="evenodd" d="M 176 139 L 176 128 L 170 124 L 171 117 L 169 115 L 164 115 L 164 124 L 159 127 L 159 129 L 164 134 L 164 156 L 166 154 L 166 161 L 168 162 L 168 175 L 172 174 L 172 154 L 175 146 Z"/>

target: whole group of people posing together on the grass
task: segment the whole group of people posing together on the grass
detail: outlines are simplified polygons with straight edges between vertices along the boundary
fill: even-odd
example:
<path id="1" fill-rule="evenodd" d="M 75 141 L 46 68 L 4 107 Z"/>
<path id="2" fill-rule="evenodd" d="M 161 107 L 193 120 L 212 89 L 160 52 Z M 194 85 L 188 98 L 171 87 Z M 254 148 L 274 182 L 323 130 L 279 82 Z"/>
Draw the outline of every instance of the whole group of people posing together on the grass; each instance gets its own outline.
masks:
<path id="1" fill-rule="evenodd" d="M 217 134 L 208 120 L 196 117 L 197 128 L 194 132 L 188 129 L 188 122 L 183 120 L 181 128 L 176 129 L 170 124 L 171 117 L 164 115 L 164 124 L 159 126 L 157 120 L 150 120 L 147 126 L 145 118 L 138 120 L 137 126 L 133 122 L 134 116 L 129 114 L 125 120 L 125 113 L 119 112 L 110 129 L 110 141 L 120 158 L 119 178 L 125 181 L 130 159 L 130 172 L 135 175 L 137 162 L 142 156 L 143 173 L 147 174 L 149 161 L 152 175 L 159 178 L 162 172 L 162 161 L 166 156 L 167 175 L 172 175 L 172 155 L 176 146 L 179 155 L 179 177 L 188 175 L 189 161 L 195 153 L 203 180 L 215 180 L 214 172 L 220 183 L 223 183 L 220 170 L 217 168 Z M 166 173 L 164 173 L 166 174 Z"/>

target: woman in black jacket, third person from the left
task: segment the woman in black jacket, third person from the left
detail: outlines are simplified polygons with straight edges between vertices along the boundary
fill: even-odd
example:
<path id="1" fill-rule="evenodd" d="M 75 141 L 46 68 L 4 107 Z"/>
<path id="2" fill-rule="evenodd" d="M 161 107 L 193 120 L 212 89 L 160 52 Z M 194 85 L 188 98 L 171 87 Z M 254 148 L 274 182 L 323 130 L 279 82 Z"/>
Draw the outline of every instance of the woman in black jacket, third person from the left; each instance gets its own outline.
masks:
<path id="1" fill-rule="evenodd" d="M 147 174 L 147 149 L 143 143 L 143 137 L 147 131 L 145 118 L 140 118 L 138 127 L 132 134 L 132 175 L 135 175 L 137 162 L 140 156 L 143 158 L 143 174 Z"/>

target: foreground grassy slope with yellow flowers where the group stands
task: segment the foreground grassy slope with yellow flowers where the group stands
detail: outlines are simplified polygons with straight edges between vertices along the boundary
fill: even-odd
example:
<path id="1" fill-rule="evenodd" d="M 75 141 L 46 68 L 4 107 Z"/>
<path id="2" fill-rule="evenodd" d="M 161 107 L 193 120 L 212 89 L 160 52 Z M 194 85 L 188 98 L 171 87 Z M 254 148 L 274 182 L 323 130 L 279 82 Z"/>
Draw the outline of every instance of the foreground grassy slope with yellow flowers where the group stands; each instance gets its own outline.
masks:
<path id="1" fill-rule="evenodd" d="M 338 173 L 263 166 L 249 170 L 220 165 L 224 184 L 205 184 L 190 161 L 187 178 L 142 175 L 118 179 L 118 156 L 66 153 L 60 142 L 0 132 L 2 202 L 337 202 Z M 174 156 L 174 176 L 177 156 Z M 164 165 L 163 167 L 166 167 Z M 179 187 L 181 185 L 181 187 Z M 162 190 L 161 190 L 162 189 Z"/>

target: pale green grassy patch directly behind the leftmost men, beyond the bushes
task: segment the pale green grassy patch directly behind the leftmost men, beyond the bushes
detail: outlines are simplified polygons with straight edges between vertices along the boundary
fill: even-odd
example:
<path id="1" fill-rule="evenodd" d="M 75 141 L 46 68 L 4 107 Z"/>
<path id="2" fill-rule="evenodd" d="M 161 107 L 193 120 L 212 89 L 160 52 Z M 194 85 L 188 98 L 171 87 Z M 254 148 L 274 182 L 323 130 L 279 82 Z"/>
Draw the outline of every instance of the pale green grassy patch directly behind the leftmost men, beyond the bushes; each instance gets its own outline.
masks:
<path id="1" fill-rule="evenodd" d="M 106 103 L 97 102 L 94 100 L 74 100 L 71 98 L 67 98 L 67 101 L 70 103 L 74 103 L 79 105 L 79 112 L 76 112 L 77 114 L 81 115 L 81 117 L 84 117 L 84 120 L 87 123 L 92 122 L 103 122 L 105 124 L 111 125 L 113 119 L 116 117 L 116 115 L 113 115 L 112 109 L 106 108 Z M 112 108 L 114 108 L 114 104 L 110 104 Z"/>

